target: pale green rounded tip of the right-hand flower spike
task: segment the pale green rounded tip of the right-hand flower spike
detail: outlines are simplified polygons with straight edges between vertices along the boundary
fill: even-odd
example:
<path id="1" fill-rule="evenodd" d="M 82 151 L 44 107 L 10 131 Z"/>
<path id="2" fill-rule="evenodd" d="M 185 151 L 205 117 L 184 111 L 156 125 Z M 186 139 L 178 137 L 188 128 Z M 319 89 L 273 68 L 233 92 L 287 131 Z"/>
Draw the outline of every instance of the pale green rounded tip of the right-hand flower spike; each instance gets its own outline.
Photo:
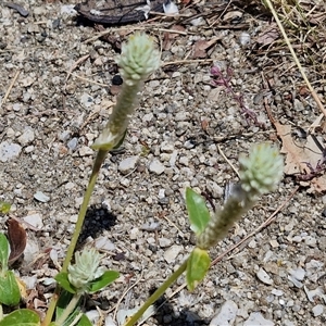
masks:
<path id="1" fill-rule="evenodd" d="M 248 156 L 240 155 L 239 162 L 241 187 L 252 200 L 275 190 L 283 177 L 284 160 L 268 143 L 254 145 Z"/>

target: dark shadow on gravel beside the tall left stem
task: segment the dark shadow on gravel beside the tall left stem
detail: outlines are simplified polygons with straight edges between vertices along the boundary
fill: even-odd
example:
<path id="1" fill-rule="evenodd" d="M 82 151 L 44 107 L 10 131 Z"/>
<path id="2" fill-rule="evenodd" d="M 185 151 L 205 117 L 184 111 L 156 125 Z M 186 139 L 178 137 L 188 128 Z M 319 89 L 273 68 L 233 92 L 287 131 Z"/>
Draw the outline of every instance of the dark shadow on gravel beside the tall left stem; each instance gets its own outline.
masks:
<path id="1" fill-rule="evenodd" d="M 110 230 L 115 225 L 115 222 L 116 216 L 108 211 L 106 208 L 96 204 L 89 206 L 78 239 L 78 247 L 82 247 L 88 237 L 96 239 L 103 230 Z"/>

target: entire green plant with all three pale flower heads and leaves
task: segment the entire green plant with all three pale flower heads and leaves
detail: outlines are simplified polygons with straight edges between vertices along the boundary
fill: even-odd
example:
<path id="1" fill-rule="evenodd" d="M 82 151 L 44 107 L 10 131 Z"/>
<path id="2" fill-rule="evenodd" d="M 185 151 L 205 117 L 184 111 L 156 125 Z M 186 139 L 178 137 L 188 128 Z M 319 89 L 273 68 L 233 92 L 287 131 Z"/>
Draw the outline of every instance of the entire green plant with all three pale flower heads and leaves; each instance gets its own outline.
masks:
<path id="1" fill-rule="evenodd" d="M 106 154 L 124 141 L 139 90 L 148 75 L 159 67 L 160 55 L 153 40 L 145 34 L 137 33 L 130 37 L 127 45 L 123 46 L 117 62 L 125 83 L 106 126 L 92 145 L 92 149 L 98 150 L 98 153 L 62 271 L 55 277 L 58 286 L 42 322 L 43 326 L 91 325 L 79 306 L 82 296 L 93 293 L 118 277 L 117 272 L 104 271 L 99 266 L 101 255 L 95 249 L 86 248 L 80 253 L 75 253 L 75 264 L 71 263 L 101 165 Z M 210 248 L 226 237 L 234 223 L 254 205 L 260 196 L 273 191 L 283 176 L 283 159 L 278 151 L 267 143 L 254 146 L 249 156 L 241 155 L 239 162 L 240 183 L 234 187 L 224 206 L 214 214 L 210 213 L 200 195 L 190 188 L 186 190 L 186 205 L 191 229 L 197 236 L 197 246 L 189 258 L 126 322 L 125 326 L 134 325 L 183 273 L 186 273 L 188 289 L 193 290 L 210 267 Z M 5 210 L 4 206 L 2 211 Z M 15 305 L 20 301 L 18 285 L 14 274 L 8 269 L 8 259 L 9 243 L 0 234 L 0 303 Z M 8 296 L 1 297 L 2 288 L 3 293 L 8 292 Z M 0 326 L 8 325 L 36 326 L 40 325 L 40 321 L 38 315 L 29 310 L 16 310 L 4 317 L 0 310 Z"/>

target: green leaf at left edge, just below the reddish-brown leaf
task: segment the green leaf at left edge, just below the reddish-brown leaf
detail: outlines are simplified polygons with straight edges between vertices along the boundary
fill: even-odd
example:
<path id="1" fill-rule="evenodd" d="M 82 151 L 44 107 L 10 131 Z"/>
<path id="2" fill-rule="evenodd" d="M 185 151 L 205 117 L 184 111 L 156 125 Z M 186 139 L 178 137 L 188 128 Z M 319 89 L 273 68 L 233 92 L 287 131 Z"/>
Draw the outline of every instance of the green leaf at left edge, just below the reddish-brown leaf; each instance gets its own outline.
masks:
<path id="1" fill-rule="evenodd" d="M 7 271 L 0 276 L 0 303 L 16 305 L 21 300 L 21 291 L 12 271 Z M 12 324 L 15 325 L 15 324 Z"/>

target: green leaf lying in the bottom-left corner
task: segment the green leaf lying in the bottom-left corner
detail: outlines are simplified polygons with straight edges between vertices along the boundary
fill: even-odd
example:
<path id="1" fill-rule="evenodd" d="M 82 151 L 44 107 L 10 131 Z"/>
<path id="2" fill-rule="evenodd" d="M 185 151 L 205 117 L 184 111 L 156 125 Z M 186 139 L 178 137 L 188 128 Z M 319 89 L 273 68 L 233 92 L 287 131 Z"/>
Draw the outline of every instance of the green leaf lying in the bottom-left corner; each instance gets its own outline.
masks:
<path id="1" fill-rule="evenodd" d="M 0 326 L 39 326 L 40 319 L 36 312 L 28 309 L 16 310 L 7 315 Z"/>

